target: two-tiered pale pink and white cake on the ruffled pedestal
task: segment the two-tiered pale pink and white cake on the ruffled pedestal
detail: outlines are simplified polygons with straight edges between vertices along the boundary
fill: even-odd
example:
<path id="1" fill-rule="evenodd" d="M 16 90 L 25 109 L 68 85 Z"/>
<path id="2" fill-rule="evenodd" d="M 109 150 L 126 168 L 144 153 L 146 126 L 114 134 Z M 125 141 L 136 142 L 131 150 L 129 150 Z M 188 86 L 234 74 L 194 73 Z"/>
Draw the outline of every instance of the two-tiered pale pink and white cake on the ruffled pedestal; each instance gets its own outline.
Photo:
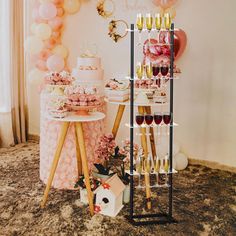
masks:
<path id="1" fill-rule="evenodd" d="M 78 57 L 77 67 L 72 70 L 72 76 L 76 79 L 76 83 L 86 83 L 94 86 L 103 85 L 103 73 L 101 58 L 94 56 Z"/>

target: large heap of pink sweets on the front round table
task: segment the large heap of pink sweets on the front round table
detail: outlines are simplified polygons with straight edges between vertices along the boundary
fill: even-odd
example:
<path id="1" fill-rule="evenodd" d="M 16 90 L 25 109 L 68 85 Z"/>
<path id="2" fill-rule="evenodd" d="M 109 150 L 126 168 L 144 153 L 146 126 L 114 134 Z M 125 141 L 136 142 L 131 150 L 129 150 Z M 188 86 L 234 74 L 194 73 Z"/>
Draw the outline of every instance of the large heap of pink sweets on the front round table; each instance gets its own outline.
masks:
<path id="1" fill-rule="evenodd" d="M 80 85 L 69 86 L 65 89 L 68 97 L 68 105 L 72 106 L 98 106 L 101 105 L 101 97 L 95 87 L 82 87 Z"/>

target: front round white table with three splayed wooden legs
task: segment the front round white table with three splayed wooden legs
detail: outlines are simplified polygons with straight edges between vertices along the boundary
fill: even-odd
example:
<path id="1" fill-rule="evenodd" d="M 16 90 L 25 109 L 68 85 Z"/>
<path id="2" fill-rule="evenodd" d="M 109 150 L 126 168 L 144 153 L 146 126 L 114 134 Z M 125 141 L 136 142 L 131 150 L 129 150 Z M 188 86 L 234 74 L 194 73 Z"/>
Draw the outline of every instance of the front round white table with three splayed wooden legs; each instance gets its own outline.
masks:
<path id="1" fill-rule="evenodd" d="M 78 176 L 80 174 L 84 174 L 85 177 L 85 185 L 88 193 L 88 202 L 90 207 L 91 215 L 94 214 L 93 207 L 93 193 L 91 191 L 90 181 L 89 181 L 89 169 L 87 163 L 87 155 L 86 155 L 86 147 L 84 140 L 84 132 L 83 132 L 83 124 L 87 122 L 99 121 L 105 118 L 105 114 L 101 112 L 93 112 L 88 116 L 78 116 L 74 113 L 70 113 L 65 118 L 53 118 L 50 115 L 45 114 L 45 118 L 51 121 L 57 121 L 60 123 L 61 131 L 60 136 L 57 142 L 57 147 L 55 150 L 53 162 L 51 165 L 51 170 L 49 177 L 47 179 L 47 186 L 44 192 L 43 200 L 41 206 L 44 207 L 48 198 L 49 190 L 52 185 L 52 181 L 58 166 L 58 162 L 61 156 L 62 148 L 66 140 L 67 132 L 70 126 L 74 127 L 75 130 L 75 146 L 76 146 L 76 158 L 77 158 L 77 168 L 78 168 Z"/>

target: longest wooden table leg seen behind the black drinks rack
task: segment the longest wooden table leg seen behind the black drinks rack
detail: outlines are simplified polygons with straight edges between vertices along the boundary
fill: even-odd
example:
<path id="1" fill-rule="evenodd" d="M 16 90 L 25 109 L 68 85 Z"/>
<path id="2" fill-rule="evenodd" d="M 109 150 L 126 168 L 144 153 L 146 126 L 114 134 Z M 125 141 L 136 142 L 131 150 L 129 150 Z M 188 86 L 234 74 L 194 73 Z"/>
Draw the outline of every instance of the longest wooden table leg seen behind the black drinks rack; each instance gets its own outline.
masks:
<path id="1" fill-rule="evenodd" d="M 140 114 L 145 113 L 145 109 L 143 106 L 138 107 L 138 111 Z M 147 137 L 146 137 L 146 128 L 140 128 L 141 131 L 141 144 L 144 151 L 145 160 L 148 157 L 148 145 L 147 145 Z M 149 174 L 145 174 L 145 186 L 146 186 L 146 198 L 147 198 L 147 208 L 151 209 L 151 189 L 150 189 L 150 176 Z"/>

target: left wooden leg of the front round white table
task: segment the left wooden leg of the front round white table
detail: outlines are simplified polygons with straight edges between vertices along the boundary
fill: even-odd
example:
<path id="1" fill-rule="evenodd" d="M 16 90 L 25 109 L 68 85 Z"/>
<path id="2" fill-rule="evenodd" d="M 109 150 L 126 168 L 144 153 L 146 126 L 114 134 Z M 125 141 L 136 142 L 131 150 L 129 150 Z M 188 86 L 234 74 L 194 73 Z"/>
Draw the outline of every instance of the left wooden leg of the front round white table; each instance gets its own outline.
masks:
<path id="1" fill-rule="evenodd" d="M 66 139 L 66 134 L 67 134 L 69 125 L 70 125 L 70 122 L 63 122 L 62 126 L 61 126 L 60 138 L 58 140 L 57 149 L 56 149 L 54 159 L 53 159 L 53 162 L 52 162 L 50 175 L 48 177 L 47 186 L 46 186 L 46 189 L 44 191 L 44 195 L 43 195 L 43 199 L 42 199 L 42 203 L 41 203 L 42 208 L 45 206 L 45 204 L 47 202 L 47 199 L 48 199 L 48 193 L 49 193 L 49 190 L 52 186 L 52 181 L 53 181 L 56 169 L 57 169 L 58 161 L 60 159 L 61 151 L 62 151 L 62 148 L 63 148 L 63 144 L 65 142 L 65 139 Z"/>

